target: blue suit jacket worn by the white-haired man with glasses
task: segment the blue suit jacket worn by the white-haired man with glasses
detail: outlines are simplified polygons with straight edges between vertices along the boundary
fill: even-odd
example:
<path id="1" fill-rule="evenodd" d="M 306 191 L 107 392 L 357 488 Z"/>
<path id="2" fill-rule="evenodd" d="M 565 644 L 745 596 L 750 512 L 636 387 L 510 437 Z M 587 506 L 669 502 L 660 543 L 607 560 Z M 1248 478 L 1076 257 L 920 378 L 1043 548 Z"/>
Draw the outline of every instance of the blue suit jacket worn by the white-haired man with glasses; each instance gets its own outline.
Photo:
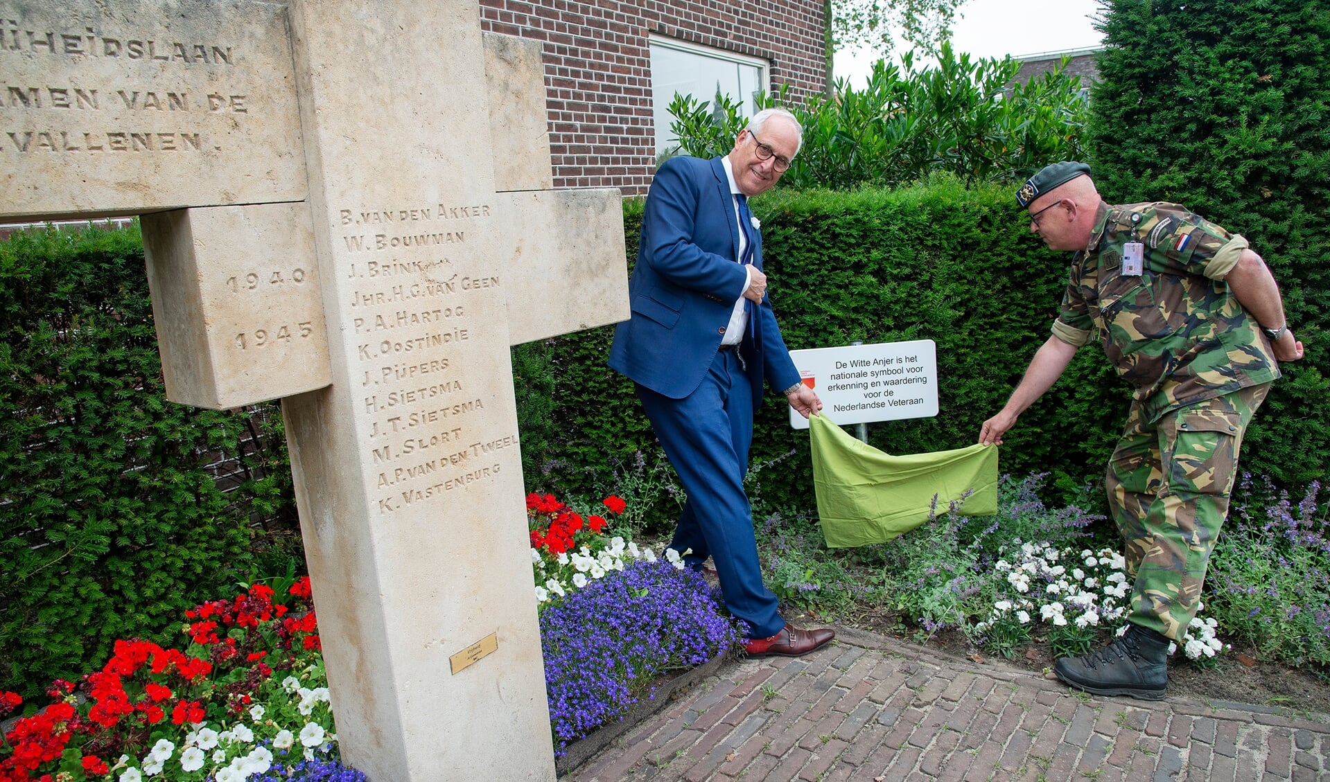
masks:
<path id="1" fill-rule="evenodd" d="M 753 265 L 762 269 L 762 237 L 749 230 Z M 702 382 L 747 282 L 735 263 L 739 226 L 721 158 L 674 157 L 652 180 L 628 282 L 632 318 L 614 328 L 610 368 L 652 391 L 682 399 Z M 751 311 L 755 310 L 755 311 Z M 778 390 L 799 382 L 781 328 L 763 297 L 750 307 L 741 346 L 761 404 L 763 380 Z"/>

